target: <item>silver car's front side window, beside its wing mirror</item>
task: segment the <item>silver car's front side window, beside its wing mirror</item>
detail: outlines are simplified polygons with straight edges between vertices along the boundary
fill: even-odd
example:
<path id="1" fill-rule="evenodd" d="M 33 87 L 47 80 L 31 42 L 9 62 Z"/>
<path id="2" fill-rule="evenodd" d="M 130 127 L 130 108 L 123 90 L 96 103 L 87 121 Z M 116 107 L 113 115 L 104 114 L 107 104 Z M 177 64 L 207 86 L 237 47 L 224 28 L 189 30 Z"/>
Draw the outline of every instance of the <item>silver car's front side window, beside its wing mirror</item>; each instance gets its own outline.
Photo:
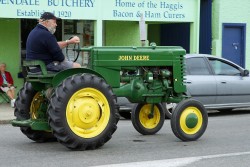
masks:
<path id="1" fill-rule="evenodd" d="M 240 70 L 236 67 L 218 59 L 209 59 L 215 75 L 240 75 Z"/>

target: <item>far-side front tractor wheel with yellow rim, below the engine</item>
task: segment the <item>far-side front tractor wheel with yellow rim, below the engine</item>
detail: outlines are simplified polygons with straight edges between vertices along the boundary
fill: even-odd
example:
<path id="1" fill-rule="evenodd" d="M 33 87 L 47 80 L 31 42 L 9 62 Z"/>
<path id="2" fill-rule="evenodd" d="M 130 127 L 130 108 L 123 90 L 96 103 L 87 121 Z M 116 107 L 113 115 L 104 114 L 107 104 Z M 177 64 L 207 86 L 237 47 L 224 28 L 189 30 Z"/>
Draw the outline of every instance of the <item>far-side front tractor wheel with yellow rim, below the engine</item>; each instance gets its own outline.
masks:
<path id="1" fill-rule="evenodd" d="M 134 128 L 143 135 L 153 135 L 163 126 L 165 110 L 162 104 L 154 104 L 154 113 L 151 116 L 152 104 L 136 104 L 131 113 L 131 121 Z"/>

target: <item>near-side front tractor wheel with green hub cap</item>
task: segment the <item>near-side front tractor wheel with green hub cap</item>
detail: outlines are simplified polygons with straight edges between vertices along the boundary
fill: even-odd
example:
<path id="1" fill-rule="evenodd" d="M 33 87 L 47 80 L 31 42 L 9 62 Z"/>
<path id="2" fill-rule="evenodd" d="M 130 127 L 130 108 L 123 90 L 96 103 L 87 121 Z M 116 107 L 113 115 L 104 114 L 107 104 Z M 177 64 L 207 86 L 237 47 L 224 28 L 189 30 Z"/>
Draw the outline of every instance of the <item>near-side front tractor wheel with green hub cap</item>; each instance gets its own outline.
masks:
<path id="1" fill-rule="evenodd" d="M 199 139 L 206 131 L 207 124 L 206 109 L 199 101 L 194 99 L 181 101 L 172 113 L 172 131 L 182 141 Z"/>

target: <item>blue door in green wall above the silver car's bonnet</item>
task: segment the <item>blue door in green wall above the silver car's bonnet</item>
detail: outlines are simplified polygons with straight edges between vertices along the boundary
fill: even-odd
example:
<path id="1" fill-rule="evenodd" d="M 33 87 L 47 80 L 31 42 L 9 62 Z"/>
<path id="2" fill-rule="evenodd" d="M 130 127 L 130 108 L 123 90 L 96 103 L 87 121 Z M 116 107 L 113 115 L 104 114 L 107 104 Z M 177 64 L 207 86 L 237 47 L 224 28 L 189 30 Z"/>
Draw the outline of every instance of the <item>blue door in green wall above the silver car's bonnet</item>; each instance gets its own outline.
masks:
<path id="1" fill-rule="evenodd" d="M 245 67 L 245 24 L 223 24 L 222 57 Z"/>

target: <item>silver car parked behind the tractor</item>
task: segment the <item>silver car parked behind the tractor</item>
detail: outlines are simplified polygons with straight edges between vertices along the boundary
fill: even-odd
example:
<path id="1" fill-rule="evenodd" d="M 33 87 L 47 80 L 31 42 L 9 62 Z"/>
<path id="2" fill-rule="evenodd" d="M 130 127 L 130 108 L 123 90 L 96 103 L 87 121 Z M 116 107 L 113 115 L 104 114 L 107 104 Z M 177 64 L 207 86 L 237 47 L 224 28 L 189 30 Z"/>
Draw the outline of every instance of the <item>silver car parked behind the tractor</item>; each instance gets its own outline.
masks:
<path id="1" fill-rule="evenodd" d="M 199 100 L 206 109 L 232 110 L 250 107 L 249 71 L 235 63 L 205 54 L 187 54 L 186 94 Z M 129 118 L 133 104 L 118 98 L 121 116 Z M 166 104 L 166 116 L 171 117 L 175 104 Z"/>

